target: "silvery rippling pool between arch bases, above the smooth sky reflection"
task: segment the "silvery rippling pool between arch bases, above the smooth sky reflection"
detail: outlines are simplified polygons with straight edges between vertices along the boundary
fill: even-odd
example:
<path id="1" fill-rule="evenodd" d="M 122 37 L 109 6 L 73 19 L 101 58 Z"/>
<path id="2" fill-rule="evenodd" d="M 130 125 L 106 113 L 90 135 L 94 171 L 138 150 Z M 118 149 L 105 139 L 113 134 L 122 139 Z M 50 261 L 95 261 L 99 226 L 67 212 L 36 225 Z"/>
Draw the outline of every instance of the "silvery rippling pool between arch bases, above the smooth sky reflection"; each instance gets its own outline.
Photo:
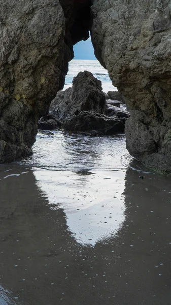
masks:
<path id="1" fill-rule="evenodd" d="M 121 170 L 131 160 L 123 134 L 87 137 L 40 132 L 29 164 L 52 170 Z"/>

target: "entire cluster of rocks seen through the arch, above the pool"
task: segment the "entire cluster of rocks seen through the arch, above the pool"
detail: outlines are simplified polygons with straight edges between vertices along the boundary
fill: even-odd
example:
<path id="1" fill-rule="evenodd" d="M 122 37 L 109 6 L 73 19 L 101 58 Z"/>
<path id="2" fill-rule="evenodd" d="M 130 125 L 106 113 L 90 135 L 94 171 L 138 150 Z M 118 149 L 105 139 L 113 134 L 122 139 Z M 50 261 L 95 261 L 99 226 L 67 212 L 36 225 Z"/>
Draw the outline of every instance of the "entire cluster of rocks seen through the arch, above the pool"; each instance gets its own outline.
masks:
<path id="1" fill-rule="evenodd" d="M 57 93 L 38 127 L 43 130 L 59 127 L 91 136 L 123 133 L 129 112 L 122 103 L 118 92 L 104 94 L 101 82 L 92 73 L 80 72 L 74 77 L 72 88 Z"/>

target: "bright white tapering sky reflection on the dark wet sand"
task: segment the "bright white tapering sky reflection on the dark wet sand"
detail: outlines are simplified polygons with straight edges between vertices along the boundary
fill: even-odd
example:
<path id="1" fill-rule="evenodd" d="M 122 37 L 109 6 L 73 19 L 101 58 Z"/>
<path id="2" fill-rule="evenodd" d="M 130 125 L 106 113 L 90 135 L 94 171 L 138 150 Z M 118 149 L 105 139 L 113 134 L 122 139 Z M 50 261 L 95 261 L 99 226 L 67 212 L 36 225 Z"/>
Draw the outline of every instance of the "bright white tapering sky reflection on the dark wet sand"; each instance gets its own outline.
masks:
<path id="1" fill-rule="evenodd" d="M 35 169 L 39 188 L 53 209 L 62 208 L 76 240 L 95 246 L 116 235 L 124 221 L 124 172 Z M 56 207 L 55 207 L 56 206 Z"/>

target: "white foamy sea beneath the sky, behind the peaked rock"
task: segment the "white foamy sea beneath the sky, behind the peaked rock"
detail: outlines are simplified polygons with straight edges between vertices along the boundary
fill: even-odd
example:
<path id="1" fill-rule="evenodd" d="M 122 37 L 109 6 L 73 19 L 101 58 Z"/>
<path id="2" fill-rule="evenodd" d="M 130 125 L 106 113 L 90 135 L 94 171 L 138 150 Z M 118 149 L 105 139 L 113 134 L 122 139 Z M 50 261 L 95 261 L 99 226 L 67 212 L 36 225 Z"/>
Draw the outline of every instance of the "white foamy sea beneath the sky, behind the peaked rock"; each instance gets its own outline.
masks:
<path id="1" fill-rule="evenodd" d="M 72 86 L 73 77 L 81 71 L 89 71 L 101 81 L 102 90 L 105 93 L 108 91 L 116 91 L 117 88 L 113 86 L 112 81 L 109 77 L 108 71 L 100 65 L 98 60 L 87 60 L 87 59 L 73 59 L 69 63 L 69 72 L 65 77 L 64 90 Z"/>

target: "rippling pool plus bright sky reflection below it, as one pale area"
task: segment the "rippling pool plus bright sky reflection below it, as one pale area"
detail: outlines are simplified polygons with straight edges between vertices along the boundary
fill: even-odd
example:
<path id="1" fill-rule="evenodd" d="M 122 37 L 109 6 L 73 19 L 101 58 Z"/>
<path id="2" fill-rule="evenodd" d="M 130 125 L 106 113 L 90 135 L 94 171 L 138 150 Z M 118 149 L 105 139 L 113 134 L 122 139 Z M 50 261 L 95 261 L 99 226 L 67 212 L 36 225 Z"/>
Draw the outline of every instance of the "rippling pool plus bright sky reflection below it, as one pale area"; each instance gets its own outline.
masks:
<path id="1" fill-rule="evenodd" d="M 61 131 L 40 132 L 26 164 L 35 168 L 51 208 L 64 210 L 76 240 L 94 246 L 116 234 L 124 220 L 124 175 L 131 160 L 123 134 L 87 137 Z"/>

